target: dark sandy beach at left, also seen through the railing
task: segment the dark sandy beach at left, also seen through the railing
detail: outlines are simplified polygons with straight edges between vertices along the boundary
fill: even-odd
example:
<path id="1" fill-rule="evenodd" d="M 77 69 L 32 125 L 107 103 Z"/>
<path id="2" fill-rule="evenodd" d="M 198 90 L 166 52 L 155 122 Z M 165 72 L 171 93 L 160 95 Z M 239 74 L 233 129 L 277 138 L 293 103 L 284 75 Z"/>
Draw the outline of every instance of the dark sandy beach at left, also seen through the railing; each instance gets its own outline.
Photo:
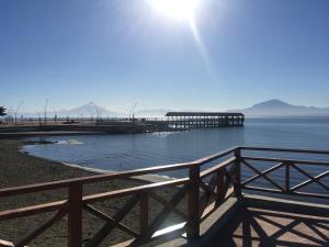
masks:
<path id="1" fill-rule="evenodd" d="M 60 179 L 69 179 L 77 177 L 86 177 L 95 175 L 91 171 L 87 171 L 79 168 L 72 168 L 65 166 L 60 162 L 45 160 L 22 154 L 19 151 L 20 147 L 24 145 L 22 141 L 14 139 L 0 139 L 0 188 L 16 187 L 23 184 L 48 182 Z M 146 183 L 140 180 L 134 179 L 116 179 L 112 181 L 93 183 L 83 188 L 84 194 L 114 191 L 117 189 L 131 188 Z M 162 198 L 168 200 L 177 191 L 175 188 L 163 189 L 157 192 Z M 46 191 L 39 193 L 33 193 L 27 195 L 18 195 L 9 198 L 0 198 L 0 211 L 16 209 L 20 206 L 34 205 L 44 202 L 57 201 L 66 199 L 67 190 Z M 99 210 L 105 212 L 109 215 L 113 215 L 120 210 L 128 198 L 115 199 L 111 201 L 104 201 L 93 204 Z M 163 209 L 160 204 L 150 199 L 150 220 Z M 185 200 L 179 205 L 184 210 Z M 39 215 L 0 222 L 0 239 L 15 242 L 20 237 L 24 236 L 29 231 L 38 224 L 45 222 L 54 213 L 44 213 Z M 178 222 L 178 218 L 171 216 L 166 224 L 173 224 Z M 122 221 L 122 223 L 132 227 L 138 232 L 139 228 L 139 205 L 137 204 L 132 212 Z M 88 242 L 97 232 L 104 225 L 102 220 L 99 220 L 86 212 L 83 212 L 83 239 Z M 115 229 L 110 236 L 102 243 L 101 246 L 109 246 L 112 244 L 121 243 L 123 240 L 131 239 L 132 237 L 123 232 Z M 57 222 L 44 234 L 33 240 L 31 246 L 67 246 L 67 217 Z"/>

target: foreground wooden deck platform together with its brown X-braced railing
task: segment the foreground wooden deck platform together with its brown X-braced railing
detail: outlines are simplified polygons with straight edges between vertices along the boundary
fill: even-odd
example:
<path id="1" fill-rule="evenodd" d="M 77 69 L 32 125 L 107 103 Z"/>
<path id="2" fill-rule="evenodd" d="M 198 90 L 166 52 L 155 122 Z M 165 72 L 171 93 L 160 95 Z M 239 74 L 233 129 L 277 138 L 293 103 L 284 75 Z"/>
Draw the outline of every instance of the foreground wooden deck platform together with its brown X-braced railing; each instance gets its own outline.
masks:
<path id="1" fill-rule="evenodd" d="M 283 158 L 297 154 L 303 159 Z M 81 247 L 82 243 L 88 247 L 100 246 L 109 235 L 115 234 L 114 229 L 127 236 L 123 243 L 115 243 L 116 247 L 325 247 L 329 243 L 328 156 L 329 151 L 325 150 L 234 147 L 192 162 L 0 189 L 0 199 L 33 197 L 33 193 L 59 189 L 67 191 L 60 201 L 2 210 L 0 222 L 45 212 L 53 213 L 53 216 L 42 218 L 39 225 L 32 221 L 29 233 L 2 239 L 0 246 L 27 246 L 56 222 L 67 217 L 63 221 L 67 225 L 67 243 L 63 246 L 68 247 Z M 246 169 L 253 173 L 246 173 Z M 185 170 L 186 177 L 100 193 L 84 191 L 91 183 L 173 170 Z M 282 173 L 280 179 L 274 176 L 277 172 Z M 300 180 L 293 182 L 296 175 L 302 175 Z M 254 183 L 259 180 L 266 183 Z M 311 192 L 307 190 L 309 186 L 318 189 Z M 159 195 L 164 188 L 170 188 L 172 198 Z M 111 215 L 97 209 L 98 202 L 118 199 L 125 203 L 115 206 Z M 306 199 L 313 202 L 305 202 Z M 161 205 L 159 212 L 149 215 L 155 203 Z M 123 222 L 135 207 L 138 227 Z M 104 227 L 86 238 L 82 220 L 87 212 L 104 221 Z M 178 215 L 179 222 L 168 221 L 171 214 Z"/>

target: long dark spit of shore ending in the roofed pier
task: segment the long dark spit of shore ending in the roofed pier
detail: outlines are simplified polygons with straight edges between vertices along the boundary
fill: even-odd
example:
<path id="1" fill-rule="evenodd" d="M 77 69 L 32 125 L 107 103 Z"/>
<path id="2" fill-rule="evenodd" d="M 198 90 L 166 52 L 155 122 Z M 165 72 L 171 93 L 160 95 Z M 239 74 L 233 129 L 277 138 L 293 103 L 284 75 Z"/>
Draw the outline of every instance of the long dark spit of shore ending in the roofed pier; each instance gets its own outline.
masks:
<path id="1" fill-rule="evenodd" d="M 37 135 L 52 132 L 67 134 L 123 134 L 157 131 L 188 131 L 193 128 L 215 128 L 243 126 L 242 113 L 227 112 L 168 112 L 163 117 L 56 117 L 21 119 L 0 125 L 0 137 Z"/>

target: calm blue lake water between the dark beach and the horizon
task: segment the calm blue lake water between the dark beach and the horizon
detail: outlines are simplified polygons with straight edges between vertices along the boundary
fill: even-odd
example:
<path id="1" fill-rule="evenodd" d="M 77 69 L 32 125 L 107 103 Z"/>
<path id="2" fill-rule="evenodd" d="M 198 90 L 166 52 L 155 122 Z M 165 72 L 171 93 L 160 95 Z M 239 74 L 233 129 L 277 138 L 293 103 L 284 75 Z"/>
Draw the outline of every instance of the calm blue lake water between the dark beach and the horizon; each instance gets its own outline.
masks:
<path id="1" fill-rule="evenodd" d="M 58 141 L 58 144 L 26 146 L 25 150 L 35 156 L 80 166 L 128 170 L 191 161 L 238 145 L 329 150 L 329 117 L 250 119 L 245 127 L 177 133 L 43 137 L 42 139 Z M 268 154 L 268 156 L 274 155 Z M 292 155 L 290 157 L 329 160 L 329 156 Z M 266 168 L 265 164 L 258 166 L 262 169 Z M 305 168 L 314 176 L 328 169 L 327 167 Z M 274 172 L 279 182 L 283 178 L 282 172 L 277 171 L 276 175 Z M 245 173 L 246 176 L 254 175 L 248 169 L 245 169 Z M 181 177 L 184 173 L 175 172 L 170 176 Z M 298 179 L 303 179 L 303 176 L 297 172 L 294 172 L 292 177 L 295 183 Z M 328 179 L 322 181 L 329 184 Z M 318 189 L 321 190 L 321 188 Z M 309 190 L 318 189 L 310 188 Z"/>

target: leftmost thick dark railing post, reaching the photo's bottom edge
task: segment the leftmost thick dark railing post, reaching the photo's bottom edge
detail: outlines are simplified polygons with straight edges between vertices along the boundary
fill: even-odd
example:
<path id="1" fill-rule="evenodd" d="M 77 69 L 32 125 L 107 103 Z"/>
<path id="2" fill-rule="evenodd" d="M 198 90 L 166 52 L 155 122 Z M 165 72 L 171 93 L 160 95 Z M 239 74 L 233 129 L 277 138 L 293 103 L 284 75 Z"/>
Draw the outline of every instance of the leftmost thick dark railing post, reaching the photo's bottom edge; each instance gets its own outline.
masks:
<path id="1" fill-rule="evenodd" d="M 68 192 L 68 247 L 82 243 L 82 184 L 72 183 Z"/>

